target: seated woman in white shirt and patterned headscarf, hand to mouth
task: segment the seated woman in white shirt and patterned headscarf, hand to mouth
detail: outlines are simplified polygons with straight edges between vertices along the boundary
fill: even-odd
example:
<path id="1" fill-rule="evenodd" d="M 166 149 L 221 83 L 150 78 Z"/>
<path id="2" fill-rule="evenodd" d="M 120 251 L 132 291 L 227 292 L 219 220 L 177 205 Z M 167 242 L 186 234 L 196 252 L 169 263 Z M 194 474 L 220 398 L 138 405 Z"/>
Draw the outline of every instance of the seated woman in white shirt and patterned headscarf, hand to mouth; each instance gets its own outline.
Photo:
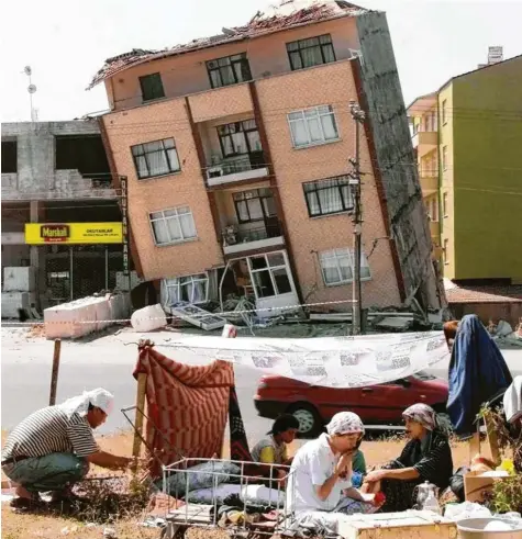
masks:
<path id="1" fill-rule="evenodd" d="M 288 510 L 300 521 L 335 531 L 338 514 L 373 513 L 373 503 L 352 486 L 352 461 L 364 436 L 360 418 L 351 412 L 335 414 L 316 440 L 302 446 L 288 478 Z M 331 514 L 329 516 L 329 514 Z M 332 528 L 333 526 L 333 528 Z"/>

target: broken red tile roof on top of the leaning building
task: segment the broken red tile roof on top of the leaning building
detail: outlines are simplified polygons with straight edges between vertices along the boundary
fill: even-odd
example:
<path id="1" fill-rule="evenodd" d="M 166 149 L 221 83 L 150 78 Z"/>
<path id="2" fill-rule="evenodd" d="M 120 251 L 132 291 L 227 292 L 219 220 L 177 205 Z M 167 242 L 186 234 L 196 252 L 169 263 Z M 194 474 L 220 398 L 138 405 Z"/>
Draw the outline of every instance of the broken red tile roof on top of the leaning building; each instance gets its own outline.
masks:
<path id="1" fill-rule="evenodd" d="M 366 13 L 368 10 L 345 2 L 344 0 L 284 0 L 274 8 L 274 14 L 257 12 L 251 21 L 244 26 L 233 29 L 223 29 L 224 33 L 210 37 L 201 37 L 192 40 L 184 45 L 175 45 L 163 50 L 145 50 L 142 48 L 133 48 L 129 53 L 124 53 L 112 58 L 108 58 L 103 67 L 92 78 L 88 90 L 99 82 L 113 77 L 114 75 L 129 69 L 132 66 L 162 59 L 168 56 L 185 54 L 202 48 L 214 47 L 225 43 L 233 43 L 243 40 L 258 37 L 259 35 L 280 32 L 295 26 L 300 26 L 311 22 L 326 21 L 341 16 L 355 16 Z"/>

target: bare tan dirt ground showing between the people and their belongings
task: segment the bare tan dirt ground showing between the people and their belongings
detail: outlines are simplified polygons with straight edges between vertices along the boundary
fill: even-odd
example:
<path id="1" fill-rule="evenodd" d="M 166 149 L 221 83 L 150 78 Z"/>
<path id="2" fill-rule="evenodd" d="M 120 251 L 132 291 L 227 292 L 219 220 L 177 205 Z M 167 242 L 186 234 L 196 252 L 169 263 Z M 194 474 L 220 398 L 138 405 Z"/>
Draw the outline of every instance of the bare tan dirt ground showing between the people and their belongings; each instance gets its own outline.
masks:
<path id="1" fill-rule="evenodd" d="M 5 433 L 2 431 L 2 445 Z M 112 436 L 99 438 L 100 447 L 107 451 L 116 454 L 130 454 L 132 449 L 132 435 L 130 433 L 119 433 Z M 385 441 L 365 441 L 362 446 L 368 467 L 386 462 L 399 454 L 403 441 L 391 439 Z M 226 446 L 225 446 L 226 447 Z M 297 449 L 297 445 L 293 451 Z M 292 451 L 291 451 L 292 452 Z M 455 468 L 464 464 L 468 459 L 468 449 L 466 445 L 459 443 L 453 448 L 453 458 Z M 100 473 L 100 470 L 93 470 L 93 473 Z M 4 479 L 2 476 L 2 479 Z M 112 528 L 116 537 L 122 539 L 148 539 L 158 538 L 159 530 L 154 528 L 144 528 L 137 525 L 144 515 L 136 515 L 132 520 L 124 520 L 108 526 L 87 527 L 74 518 L 58 518 L 56 516 L 27 515 L 13 513 L 9 503 L 2 504 L 2 538 L 21 539 L 21 538 L 44 538 L 56 539 L 64 537 L 79 537 L 86 539 L 100 539 L 103 537 L 105 527 Z M 227 537 L 223 531 L 190 529 L 187 532 L 188 539 L 224 539 Z"/>

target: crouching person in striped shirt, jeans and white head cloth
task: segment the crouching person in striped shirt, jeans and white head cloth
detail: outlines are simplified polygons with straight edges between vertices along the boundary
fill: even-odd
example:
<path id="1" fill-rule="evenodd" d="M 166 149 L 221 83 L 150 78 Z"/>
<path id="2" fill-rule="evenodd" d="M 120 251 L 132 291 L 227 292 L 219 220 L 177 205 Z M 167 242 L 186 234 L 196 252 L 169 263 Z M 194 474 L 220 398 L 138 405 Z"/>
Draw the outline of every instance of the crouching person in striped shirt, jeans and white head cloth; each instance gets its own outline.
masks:
<path id="1" fill-rule="evenodd" d="M 54 501 L 69 498 L 71 485 L 85 478 L 90 463 L 110 470 L 130 467 L 132 459 L 101 451 L 92 435 L 113 402 L 101 388 L 87 391 L 34 412 L 11 431 L 1 461 L 3 473 L 19 485 L 11 505 L 27 507 L 48 491 Z"/>

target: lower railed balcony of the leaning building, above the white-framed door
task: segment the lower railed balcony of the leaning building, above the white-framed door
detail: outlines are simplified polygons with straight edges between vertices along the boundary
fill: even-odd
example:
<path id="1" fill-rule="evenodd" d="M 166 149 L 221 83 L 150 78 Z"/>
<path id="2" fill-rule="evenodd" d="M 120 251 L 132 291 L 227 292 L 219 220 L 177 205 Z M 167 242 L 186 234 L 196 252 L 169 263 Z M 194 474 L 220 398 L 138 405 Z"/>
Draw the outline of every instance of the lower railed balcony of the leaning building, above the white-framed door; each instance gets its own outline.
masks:
<path id="1" fill-rule="evenodd" d="M 222 232 L 223 252 L 227 256 L 280 247 L 285 245 L 282 229 L 277 218 L 268 218 L 263 226 L 247 227 L 232 224 Z"/>

